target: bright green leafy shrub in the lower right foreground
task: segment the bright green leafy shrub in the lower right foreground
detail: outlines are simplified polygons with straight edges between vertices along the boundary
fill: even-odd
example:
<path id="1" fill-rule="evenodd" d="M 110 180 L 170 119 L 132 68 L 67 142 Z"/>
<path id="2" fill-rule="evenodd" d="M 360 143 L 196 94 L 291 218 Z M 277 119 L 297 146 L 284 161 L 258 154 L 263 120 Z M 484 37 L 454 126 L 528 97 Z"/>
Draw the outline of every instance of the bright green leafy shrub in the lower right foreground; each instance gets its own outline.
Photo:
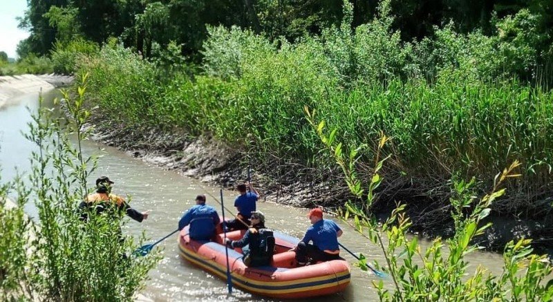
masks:
<path id="1" fill-rule="evenodd" d="M 379 173 L 389 158 L 381 158 L 382 148 L 390 138 L 380 133 L 371 181 L 364 188 L 355 168 L 358 152 L 364 147 L 349 149 L 339 142 L 334 130 L 326 131 L 324 120 L 315 121 L 315 111 L 306 109 L 306 113 L 315 133 L 344 172 L 351 193 L 362 200 L 360 205 L 348 201 L 341 217 L 346 223 L 350 221 L 348 218 L 353 218 L 352 227 L 362 235 L 368 234 L 366 238 L 382 249 L 386 259 L 384 265 L 375 263 L 376 268 L 364 255 L 359 256 L 357 263 L 364 271 L 370 267 L 379 275 L 382 272 L 378 270 L 383 270 L 391 276 L 391 286 L 384 285 L 382 279 L 373 280 L 380 301 L 552 301 L 553 281 L 547 282 L 552 267 L 547 255 L 532 254 L 531 240 L 523 238 L 516 243 L 507 243 L 503 254 L 505 266 L 500 276 L 493 276 L 480 266 L 474 274 L 467 274 L 469 263 L 465 257 L 480 249 L 473 243 L 474 238 L 491 226 L 482 220 L 489 215 L 494 201 L 505 194 L 505 189 L 500 189 L 500 186 L 508 178 L 520 176 L 516 174 L 518 162 L 498 173 L 493 189 L 482 198 L 474 197 L 474 178 L 469 182 L 455 181 L 450 200 L 455 234 L 446 240 L 436 238 L 426 250 L 422 250 L 418 238 L 407 235 L 411 221 L 406 216 L 405 205 L 398 204 L 382 225 L 367 211 L 371 209 L 376 189 L 382 183 Z"/>

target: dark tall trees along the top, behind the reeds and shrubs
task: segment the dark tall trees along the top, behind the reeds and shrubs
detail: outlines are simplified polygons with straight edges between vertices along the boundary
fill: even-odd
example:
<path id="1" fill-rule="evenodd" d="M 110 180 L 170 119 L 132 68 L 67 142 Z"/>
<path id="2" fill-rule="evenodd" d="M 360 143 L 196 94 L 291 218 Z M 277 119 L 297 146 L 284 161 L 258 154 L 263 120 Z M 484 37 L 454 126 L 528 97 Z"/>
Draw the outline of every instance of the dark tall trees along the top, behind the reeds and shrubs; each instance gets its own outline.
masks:
<path id="1" fill-rule="evenodd" d="M 125 46 L 150 57 L 154 44 L 162 48 L 174 41 L 182 54 L 196 55 L 208 35 L 209 26 L 238 26 L 263 33 L 271 41 L 288 41 L 319 35 L 325 28 L 339 25 L 341 0 L 28 0 L 28 11 L 21 27 L 31 36 L 19 47 L 19 55 L 46 55 L 56 40 L 82 35 L 100 44 L 109 37 L 120 37 Z M 353 27 L 371 21 L 378 1 L 349 1 Z M 551 0 L 425 0 L 391 1 L 391 14 L 397 16 L 392 26 L 402 41 L 431 37 L 435 26 L 453 21 L 457 31 L 480 28 L 493 34 L 496 17 L 503 18 L 527 10 L 536 16 L 535 30 L 544 38 L 539 51 L 549 51 L 552 37 L 553 3 Z"/>

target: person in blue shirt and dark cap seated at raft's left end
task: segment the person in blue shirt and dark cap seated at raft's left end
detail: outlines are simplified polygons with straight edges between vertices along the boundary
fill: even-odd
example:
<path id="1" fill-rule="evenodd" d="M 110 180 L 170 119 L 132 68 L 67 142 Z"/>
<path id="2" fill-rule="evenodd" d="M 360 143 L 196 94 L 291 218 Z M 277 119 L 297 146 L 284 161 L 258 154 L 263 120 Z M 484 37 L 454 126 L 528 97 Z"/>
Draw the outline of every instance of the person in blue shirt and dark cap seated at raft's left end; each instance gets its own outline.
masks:
<path id="1" fill-rule="evenodd" d="M 190 225 L 188 234 L 194 240 L 211 240 L 215 227 L 221 223 L 214 207 L 205 205 L 205 195 L 196 196 L 196 205 L 188 209 L 178 221 L 178 229 Z"/>

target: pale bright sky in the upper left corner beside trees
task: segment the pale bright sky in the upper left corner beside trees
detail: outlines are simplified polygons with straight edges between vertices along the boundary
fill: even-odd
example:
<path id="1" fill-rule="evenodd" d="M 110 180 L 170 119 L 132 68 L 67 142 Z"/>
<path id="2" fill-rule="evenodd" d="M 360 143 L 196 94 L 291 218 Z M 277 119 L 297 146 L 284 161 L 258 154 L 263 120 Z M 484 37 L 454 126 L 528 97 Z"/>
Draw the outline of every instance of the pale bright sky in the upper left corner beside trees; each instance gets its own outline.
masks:
<path id="1" fill-rule="evenodd" d="M 8 57 L 17 57 L 17 44 L 29 36 L 29 32 L 17 28 L 19 22 L 15 19 L 23 17 L 26 9 L 27 0 L 0 0 L 0 51 Z"/>

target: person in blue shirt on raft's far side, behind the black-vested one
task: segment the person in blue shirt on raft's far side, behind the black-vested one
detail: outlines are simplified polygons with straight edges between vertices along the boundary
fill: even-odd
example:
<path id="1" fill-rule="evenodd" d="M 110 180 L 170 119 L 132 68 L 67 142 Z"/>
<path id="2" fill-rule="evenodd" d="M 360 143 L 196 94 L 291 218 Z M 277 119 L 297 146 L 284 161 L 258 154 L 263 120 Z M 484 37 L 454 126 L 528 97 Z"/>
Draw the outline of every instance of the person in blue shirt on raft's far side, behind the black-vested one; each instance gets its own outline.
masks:
<path id="1" fill-rule="evenodd" d="M 246 191 L 249 188 L 249 191 Z M 251 224 L 250 215 L 256 210 L 256 202 L 259 200 L 259 192 L 254 189 L 252 184 L 240 184 L 236 186 L 236 190 L 240 193 L 234 200 L 234 207 L 238 210 L 236 218 L 225 222 L 227 230 L 234 231 L 236 229 L 247 229 Z"/>

